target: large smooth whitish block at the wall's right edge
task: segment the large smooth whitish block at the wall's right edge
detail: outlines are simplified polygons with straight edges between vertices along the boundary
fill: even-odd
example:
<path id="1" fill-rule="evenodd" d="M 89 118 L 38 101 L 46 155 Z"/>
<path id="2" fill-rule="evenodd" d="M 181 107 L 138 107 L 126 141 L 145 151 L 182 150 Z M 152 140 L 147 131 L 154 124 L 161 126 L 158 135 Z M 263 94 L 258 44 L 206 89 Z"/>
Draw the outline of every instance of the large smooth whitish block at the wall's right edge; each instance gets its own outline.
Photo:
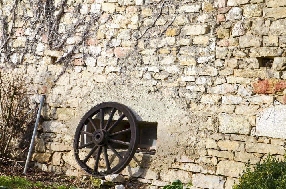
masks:
<path id="1" fill-rule="evenodd" d="M 285 116 L 286 105 L 277 105 L 271 110 L 271 107 L 263 108 L 257 114 L 261 119 L 257 119 L 256 135 L 273 138 L 286 138 Z M 269 116 L 269 117 L 268 117 Z M 261 121 L 263 120 L 263 121 Z M 268 153 L 268 152 L 266 152 Z"/>

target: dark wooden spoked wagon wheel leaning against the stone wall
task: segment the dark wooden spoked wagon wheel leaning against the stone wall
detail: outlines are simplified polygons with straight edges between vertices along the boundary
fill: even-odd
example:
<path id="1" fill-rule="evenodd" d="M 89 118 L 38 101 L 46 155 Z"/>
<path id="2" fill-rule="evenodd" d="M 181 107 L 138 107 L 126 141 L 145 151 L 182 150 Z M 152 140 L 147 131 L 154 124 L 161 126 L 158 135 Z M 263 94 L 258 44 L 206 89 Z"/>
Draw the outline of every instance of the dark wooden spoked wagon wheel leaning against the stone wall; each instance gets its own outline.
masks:
<path id="1" fill-rule="evenodd" d="M 103 102 L 80 120 L 74 136 L 74 156 L 84 172 L 103 178 L 118 174 L 129 164 L 138 140 L 138 124 L 131 110 L 117 102 Z"/>

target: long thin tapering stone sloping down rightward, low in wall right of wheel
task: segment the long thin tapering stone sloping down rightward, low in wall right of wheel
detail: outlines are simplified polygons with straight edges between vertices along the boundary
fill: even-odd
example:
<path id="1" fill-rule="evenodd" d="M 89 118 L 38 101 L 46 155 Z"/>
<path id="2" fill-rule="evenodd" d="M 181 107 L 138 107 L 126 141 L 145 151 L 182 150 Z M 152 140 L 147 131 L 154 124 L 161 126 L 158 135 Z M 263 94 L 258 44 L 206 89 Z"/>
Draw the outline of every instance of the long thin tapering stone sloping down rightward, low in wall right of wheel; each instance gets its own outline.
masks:
<path id="1" fill-rule="evenodd" d="M 199 172 L 204 174 L 215 174 L 215 171 L 207 170 L 200 166 L 199 164 L 195 163 L 182 163 L 182 162 L 175 162 L 172 164 L 171 168 L 182 169 L 191 172 Z"/>

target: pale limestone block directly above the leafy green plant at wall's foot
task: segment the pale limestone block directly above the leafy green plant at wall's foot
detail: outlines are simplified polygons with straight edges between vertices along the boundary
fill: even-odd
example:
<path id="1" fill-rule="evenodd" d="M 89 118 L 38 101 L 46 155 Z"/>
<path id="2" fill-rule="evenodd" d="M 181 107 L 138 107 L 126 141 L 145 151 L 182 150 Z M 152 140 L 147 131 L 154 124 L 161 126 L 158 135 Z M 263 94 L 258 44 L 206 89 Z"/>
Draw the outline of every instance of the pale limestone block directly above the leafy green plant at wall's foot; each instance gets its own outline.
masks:
<path id="1" fill-rule="evenodd" d="M 174 169 L 162 170 L 160 178 L 167 182 L 173 182 L 174 178 L 180 178 L 182 183 L 188 183 L 192 178 L 192 172 Z"/>

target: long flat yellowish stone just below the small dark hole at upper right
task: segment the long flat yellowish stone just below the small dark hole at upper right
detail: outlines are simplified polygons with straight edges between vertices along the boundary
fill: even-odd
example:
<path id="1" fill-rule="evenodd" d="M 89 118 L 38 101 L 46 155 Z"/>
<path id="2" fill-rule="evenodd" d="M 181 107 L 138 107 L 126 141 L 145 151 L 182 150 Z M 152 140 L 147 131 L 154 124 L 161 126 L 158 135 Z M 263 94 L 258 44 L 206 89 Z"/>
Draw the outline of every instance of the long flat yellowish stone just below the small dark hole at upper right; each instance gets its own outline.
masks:
<path id="1" fill-rule="evenodd" d="M 237 77 L 260 77 L 260 78 L 280 78 L 278 71 L 272 70 L 250 70 L 250 69 L 234 69 L 234 76 Z"/>

